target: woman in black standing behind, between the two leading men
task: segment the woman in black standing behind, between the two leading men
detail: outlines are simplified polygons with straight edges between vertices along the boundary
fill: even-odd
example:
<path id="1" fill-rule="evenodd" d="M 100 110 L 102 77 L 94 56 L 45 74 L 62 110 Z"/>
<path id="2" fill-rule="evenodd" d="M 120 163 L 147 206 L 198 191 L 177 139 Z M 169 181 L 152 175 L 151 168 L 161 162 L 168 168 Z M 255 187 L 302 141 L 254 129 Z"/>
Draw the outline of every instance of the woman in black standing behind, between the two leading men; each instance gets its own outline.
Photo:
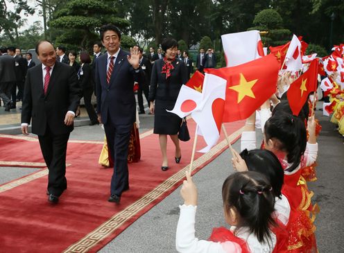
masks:
<path id="1" fill-rule="evenodd" d="M 83 89 L 83 98 L 85 101 L 85 107 L 87 114 L 91 123 L 89 125 L 98 124 L 98 119 L 94 107 L 91 103 L 92 94 L 94 91 L 94 83 L 92 78 L 92 67 L 89 65 L 91 63 L 91 58 L 89 54 L 85 51 L 80 53 L 80 68 L 78 69 L 78 78 L 80 82 L 80 87 Z"/>

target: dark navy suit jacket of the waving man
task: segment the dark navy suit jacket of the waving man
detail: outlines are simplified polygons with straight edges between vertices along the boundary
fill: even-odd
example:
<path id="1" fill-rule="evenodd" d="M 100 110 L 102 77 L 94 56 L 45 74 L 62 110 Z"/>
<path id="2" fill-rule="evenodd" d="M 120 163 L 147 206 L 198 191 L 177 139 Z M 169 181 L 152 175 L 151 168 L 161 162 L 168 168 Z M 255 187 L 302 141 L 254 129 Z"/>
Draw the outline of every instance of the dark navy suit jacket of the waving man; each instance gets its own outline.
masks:
<path id="1" fill-rule="evenodd" d="M 105 125 L 109 120 L 113 125 L 135 122 L 136 101 L 132 88 L 134 81 L 139 82 L 140 73 L 132 68 L 127 55 L 128 52 L 120 49 L 109 84 L 106 82 L 107 53 L 96 60 L 97 112 L 101 114 L 101 121 Z"/>

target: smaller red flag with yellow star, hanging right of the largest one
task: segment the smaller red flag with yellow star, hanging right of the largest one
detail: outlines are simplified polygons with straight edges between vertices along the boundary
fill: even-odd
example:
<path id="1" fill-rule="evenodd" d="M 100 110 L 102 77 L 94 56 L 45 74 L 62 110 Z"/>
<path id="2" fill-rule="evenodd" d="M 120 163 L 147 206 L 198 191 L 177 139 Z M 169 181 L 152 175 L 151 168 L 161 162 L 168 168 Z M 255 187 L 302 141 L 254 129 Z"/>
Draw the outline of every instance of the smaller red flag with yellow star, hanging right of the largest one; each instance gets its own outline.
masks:
<path id="1" fill-rule="evenodd" d="M 306 103 L 309 93 L 316 91 L 318 84 L 318 59 L 311 61 L 311 66 L 298 79 L 291 83 L 286 97 L 288 98 L 291 111 L 298 116 L 304 103 Z"/>

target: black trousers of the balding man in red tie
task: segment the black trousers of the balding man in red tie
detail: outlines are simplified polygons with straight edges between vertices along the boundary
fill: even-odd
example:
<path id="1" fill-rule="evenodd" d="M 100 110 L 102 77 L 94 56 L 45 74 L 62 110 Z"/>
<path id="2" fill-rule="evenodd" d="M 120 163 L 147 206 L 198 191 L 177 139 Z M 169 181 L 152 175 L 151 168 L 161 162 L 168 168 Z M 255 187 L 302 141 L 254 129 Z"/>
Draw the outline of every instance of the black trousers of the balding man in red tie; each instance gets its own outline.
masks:
<path id="1" fill-rule="evenodd" d="M 68 134 L 53 134 L 46 127 L 44 135 L 39 135 L 40 146 L 46 166 L 49 168 L 48 191 L 50 194 L 60 196 L 67 189 L 66 154 Z"/>

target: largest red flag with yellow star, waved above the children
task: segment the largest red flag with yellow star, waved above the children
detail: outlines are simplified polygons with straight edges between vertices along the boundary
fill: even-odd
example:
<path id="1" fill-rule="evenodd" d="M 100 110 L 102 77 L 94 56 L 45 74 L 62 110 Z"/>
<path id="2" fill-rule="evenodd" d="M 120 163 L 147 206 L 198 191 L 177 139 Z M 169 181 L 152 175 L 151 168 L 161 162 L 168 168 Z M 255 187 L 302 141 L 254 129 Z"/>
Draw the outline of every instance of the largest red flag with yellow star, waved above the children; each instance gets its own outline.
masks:
<path id="1" fill-rule="evenodd" d="M 270 54 L 238 66 L 205 71 L 227 80 L 223 122 L 232 122 L 247 119 L 275 93 L 279 64 Z"/>

